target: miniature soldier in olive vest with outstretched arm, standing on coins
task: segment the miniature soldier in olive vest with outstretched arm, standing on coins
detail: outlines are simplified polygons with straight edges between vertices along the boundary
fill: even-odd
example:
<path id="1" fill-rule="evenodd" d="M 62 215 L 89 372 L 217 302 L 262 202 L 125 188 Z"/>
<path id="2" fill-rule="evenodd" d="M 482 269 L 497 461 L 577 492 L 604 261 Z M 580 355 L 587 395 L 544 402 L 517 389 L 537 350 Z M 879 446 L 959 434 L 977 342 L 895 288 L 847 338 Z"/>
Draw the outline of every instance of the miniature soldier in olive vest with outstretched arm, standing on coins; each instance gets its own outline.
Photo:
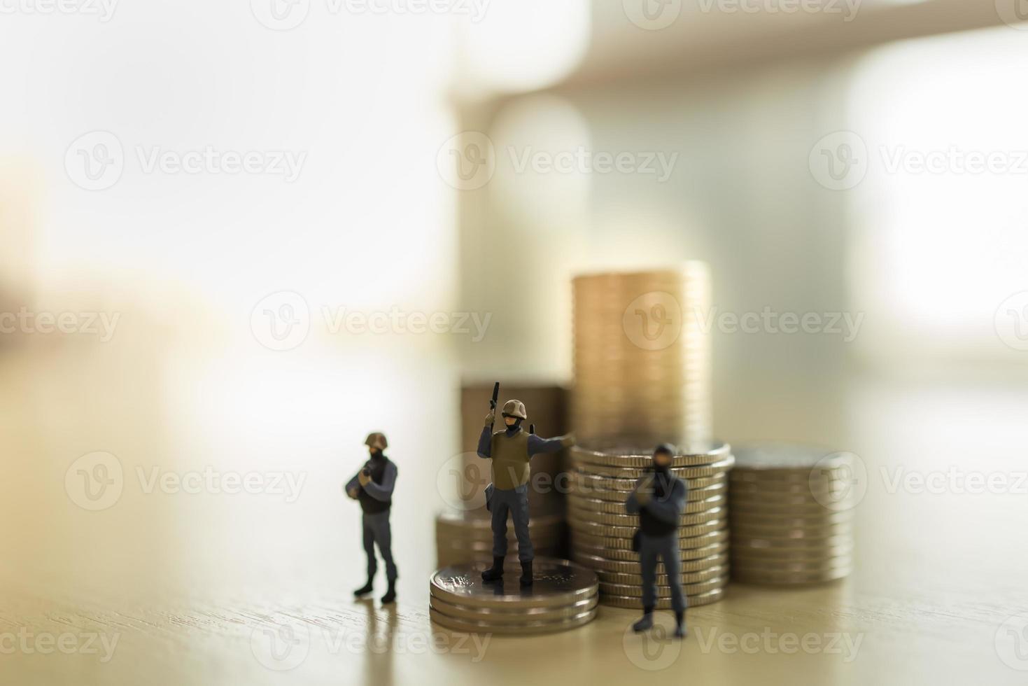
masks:
<path id="1" fill-rule="evenodd" d="M 492 483 L 486 489 L 486 504 L 492 513 L 492 567 L 482 572 L 486 581 L 504 574 L 507 555 L 507 513 L 514 519 L 518 559 L 521 562 L 522 586 L 531 585 L 531 561 L 535 554 L 528 537 L 528 461 L 540 453 L 556 453 L 575 444 L 571 434 L 540 438 L 521 428 L 528 416 L 520 400 L 508 400 L 503 409 L 506 429 L 491 433 L 495 409 L 485 417 L 485 427 L 478 439 L 478 457 L 492 459 Z M 490 435 L 491 434 L 491 435 Z"/>

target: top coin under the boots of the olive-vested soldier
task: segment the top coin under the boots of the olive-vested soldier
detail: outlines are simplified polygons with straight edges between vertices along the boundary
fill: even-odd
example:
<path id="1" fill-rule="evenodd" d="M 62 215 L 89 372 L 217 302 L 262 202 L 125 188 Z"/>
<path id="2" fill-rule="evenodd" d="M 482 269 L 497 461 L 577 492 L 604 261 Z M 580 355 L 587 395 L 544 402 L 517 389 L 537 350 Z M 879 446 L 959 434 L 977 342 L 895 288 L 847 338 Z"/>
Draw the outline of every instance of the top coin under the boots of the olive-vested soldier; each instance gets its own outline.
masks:
<path id="1" fill-rule="evenodd" d="M 581 565 L 537 557 L 531 586 L 522 588 L 516 575 L 483 581 L 487 565 L 471 563 L 446 567 L 432 575 L 432 594 L 452 605 L 489 608 L 541 608 L 574 604 L 592 595 L 596 575 Z"/>

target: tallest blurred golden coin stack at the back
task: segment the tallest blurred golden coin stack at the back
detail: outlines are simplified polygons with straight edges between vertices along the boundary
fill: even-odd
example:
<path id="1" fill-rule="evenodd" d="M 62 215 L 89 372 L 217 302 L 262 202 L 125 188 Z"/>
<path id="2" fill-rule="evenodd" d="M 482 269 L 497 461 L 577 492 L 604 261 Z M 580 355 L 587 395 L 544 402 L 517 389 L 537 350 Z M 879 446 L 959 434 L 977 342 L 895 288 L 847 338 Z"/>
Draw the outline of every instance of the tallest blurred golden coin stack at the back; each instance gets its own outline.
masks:
<path id="1" fill-rule="evenodd" d="M 590 445 L 711 438 L 709 273 L 577 277 L 571 426 Z"/>

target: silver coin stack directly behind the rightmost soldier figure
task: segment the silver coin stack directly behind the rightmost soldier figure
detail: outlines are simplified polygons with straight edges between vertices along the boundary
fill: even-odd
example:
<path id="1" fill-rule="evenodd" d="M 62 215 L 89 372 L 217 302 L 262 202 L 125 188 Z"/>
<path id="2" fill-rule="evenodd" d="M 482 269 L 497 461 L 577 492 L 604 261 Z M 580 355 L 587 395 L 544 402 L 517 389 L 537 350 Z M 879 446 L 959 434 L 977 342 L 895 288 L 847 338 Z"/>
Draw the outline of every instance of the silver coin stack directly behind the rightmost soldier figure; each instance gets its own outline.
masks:
<path id="1" fill-rule="evenodd" d="M 641 605 L 641 570 L 632 551 L 638 515 L 625 500 L 652 464 L 649 450 L 572 448 L 572 488 L 567 523 L 572 558 L 596 572 L 600 603 Z M 683 592 L 689 605 L 721 600 L 728 582 L 728 472 L 734 464 L 727 443 L 692 445 L 676 455 L 671 471 L 686 480 L 688 502 L 678 529 Z M 657 569 L 657 608 L 670 608 L 670 586 L 663 563 Z"/>

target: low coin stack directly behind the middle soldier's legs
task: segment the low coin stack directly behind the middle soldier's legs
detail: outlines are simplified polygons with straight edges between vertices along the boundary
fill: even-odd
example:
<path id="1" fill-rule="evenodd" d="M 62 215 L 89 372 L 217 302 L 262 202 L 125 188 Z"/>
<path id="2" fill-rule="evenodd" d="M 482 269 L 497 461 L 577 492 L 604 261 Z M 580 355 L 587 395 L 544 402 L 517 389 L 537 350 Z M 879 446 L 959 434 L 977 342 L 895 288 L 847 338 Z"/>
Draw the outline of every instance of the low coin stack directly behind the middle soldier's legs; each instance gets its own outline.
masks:
<path id="1" fill-rule="evenodd" d="M 436 516 L 438 565 L 492 563 L 492 528 L 488 512 L 443 512 Z M 531 547 L 537 555 L 563 556 L 565 525 L 562 514 L 531 516 L 528 519 Z M 507 558 L 517 561 L 514 522 L 507 520 Z"/>

